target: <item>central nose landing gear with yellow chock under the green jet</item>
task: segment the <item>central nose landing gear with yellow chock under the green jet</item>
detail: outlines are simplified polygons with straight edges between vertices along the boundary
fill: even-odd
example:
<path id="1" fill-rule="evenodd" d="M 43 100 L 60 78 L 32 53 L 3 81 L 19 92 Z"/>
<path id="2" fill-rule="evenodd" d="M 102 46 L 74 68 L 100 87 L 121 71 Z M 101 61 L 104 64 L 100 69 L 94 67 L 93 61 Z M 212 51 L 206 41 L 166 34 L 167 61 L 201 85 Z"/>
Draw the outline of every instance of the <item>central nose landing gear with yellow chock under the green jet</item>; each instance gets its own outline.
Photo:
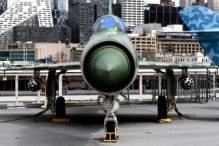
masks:
<path id="1" fill-rule="evenodd" d="M 104 120 L 104 142 L 116 142 L 119 139 L 119 126 L 114 113 L 114 96 L 106 96 L 107 112 Z"/>

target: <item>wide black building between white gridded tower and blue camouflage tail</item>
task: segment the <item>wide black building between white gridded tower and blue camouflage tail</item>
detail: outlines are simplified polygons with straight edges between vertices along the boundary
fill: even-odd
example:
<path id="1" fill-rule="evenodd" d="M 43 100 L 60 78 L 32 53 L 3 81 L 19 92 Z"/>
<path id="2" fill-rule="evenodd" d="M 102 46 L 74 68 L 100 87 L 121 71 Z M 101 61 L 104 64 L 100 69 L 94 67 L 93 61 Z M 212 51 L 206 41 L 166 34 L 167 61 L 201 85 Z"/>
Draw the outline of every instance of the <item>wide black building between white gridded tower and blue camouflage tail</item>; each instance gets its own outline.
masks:
<path id="1" fill-rule="evenodd" d="M 148 4 L 145 8 L 144 23 L 161 23 L 163 27 L 170 24 L 183 24 L 179 16 L 181 9 L 182 7 Z M 184 30 L 188 28 L 185 26 Z"/>

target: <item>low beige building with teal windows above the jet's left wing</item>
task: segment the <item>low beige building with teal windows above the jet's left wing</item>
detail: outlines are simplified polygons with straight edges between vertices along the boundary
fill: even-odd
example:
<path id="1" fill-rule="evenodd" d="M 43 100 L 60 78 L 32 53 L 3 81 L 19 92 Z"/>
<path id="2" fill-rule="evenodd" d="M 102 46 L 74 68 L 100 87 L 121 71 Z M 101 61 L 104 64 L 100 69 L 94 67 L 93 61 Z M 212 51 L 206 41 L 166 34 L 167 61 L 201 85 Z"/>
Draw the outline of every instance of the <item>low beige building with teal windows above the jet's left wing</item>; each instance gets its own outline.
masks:
<path id="1" fill-rule="evenodd" d="M 10 60 L 12 62 L 33 61 L 49 56 L 55 57 L 55 61 L 70 61 L 70 51 L 79 44 L 65 43 L 11 43 L 0 44 L 0 61 Z"/>

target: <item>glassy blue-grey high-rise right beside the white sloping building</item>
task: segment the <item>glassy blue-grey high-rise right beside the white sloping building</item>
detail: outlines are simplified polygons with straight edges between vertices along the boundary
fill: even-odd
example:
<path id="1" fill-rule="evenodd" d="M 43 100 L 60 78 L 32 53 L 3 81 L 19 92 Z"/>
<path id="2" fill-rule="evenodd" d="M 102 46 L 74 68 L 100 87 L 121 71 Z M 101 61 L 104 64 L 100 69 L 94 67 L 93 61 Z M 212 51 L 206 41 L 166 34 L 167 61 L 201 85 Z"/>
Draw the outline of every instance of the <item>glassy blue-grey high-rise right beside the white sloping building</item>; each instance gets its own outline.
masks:
<path id="1" fill-rule="evenodd" d="M 68 25 L 67 0 L 51 0 L 54 26 Z"/>

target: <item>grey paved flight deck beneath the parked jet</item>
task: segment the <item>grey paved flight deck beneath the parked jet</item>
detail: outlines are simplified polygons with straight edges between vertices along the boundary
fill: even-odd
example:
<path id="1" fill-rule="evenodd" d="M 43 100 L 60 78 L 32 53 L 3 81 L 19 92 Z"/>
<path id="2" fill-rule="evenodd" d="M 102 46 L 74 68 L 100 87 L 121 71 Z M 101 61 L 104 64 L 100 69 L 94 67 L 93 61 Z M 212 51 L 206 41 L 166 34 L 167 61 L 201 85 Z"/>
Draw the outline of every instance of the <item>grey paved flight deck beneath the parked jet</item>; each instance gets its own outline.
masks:
<path id="1" fill-rule="evenodd" d="M 116 143 L 103 142 L 101 106 L 67 108 L 70 123 L 52 123 L 50 111 L 42 116 L 0 123 L 1 146 L 216 146 L 219 143 L 219 101 L 207 104 L 178 104 L 183 115 L 168 115 L 172 123 L 159 124 L 156 104 L 122 105 L 117 114 L 120 139 Z M 1 110 L 0 121 L 32 116 L 39 108 Z"/>

